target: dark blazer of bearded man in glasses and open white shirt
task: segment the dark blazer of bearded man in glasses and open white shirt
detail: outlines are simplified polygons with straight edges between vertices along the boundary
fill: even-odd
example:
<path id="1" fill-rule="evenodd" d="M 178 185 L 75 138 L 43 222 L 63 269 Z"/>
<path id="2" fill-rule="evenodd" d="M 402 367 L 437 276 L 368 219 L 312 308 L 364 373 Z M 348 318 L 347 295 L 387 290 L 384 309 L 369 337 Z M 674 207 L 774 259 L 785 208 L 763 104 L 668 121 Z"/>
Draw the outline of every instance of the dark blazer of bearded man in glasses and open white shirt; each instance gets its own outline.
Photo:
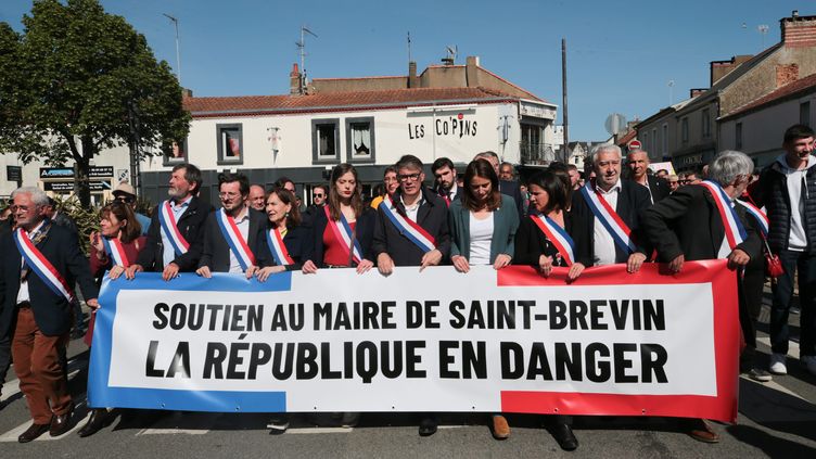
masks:
<path id="1" fill-rule="evenodd" d="M 211 212 L 207 221 L 204 224 L 204 246 L 202 247 L 199 267 L 206 266 L 213 272 L 228 272 L 230 267 L 230 247 L 224 239 L 221 228 L 218 226 L 216 212 L 221 212 L 221 209 Z M 275 263 L 272 262 L 269 245 L 264 234 L 267 219 L 264 217 L 264 214 L 257 211 L 248 212 L 248 215 L 250 230 L 247 231 L 246 245 L 250 246 L 250 251 L 252 251 L 255 257 L 255 266 L 260 268 L 271 266 Z"/>

